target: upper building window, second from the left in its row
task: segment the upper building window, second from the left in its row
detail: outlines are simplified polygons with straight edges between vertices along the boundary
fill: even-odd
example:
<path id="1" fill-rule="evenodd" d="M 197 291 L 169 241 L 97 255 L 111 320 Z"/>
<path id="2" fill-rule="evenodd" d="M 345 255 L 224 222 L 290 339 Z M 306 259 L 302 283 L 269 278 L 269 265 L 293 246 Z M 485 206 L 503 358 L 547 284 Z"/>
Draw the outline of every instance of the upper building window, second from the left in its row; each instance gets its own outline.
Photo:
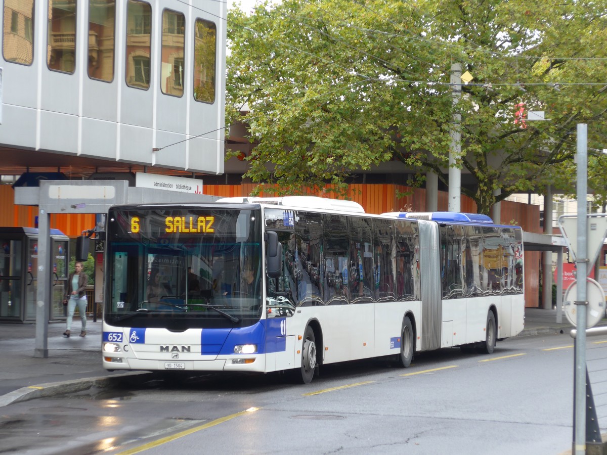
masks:
<path id="1" fill-rule="evenodd" d="M 47 66 L 52 71 L 73 74 L 76 68 L 76 2 L 49 7 Z"/>

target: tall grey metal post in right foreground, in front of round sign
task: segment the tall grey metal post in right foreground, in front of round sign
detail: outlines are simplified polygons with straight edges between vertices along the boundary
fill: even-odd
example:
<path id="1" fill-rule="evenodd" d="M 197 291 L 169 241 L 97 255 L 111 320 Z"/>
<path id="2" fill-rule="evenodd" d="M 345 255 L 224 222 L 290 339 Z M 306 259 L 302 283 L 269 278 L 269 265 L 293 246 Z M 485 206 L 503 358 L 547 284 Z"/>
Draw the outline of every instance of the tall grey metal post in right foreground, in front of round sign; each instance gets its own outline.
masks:
<path id="1" fill-rule="evenodd" d="M 573 453 L 586 454 L 586 288 L 588 276 L 588 244 L 586 232 L 586 195 L 588 194 L 588 125 L 577 126 L 577 338 L 575 340 L 575 396 Z"/>

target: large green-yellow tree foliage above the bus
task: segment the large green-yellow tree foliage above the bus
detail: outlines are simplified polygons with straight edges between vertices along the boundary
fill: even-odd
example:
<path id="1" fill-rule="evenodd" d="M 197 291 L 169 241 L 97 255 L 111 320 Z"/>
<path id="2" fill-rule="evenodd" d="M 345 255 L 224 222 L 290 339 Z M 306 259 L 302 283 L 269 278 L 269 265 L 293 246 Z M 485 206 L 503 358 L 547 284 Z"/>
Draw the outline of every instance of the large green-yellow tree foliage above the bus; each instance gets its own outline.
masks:
<path id="1" fill-rule="evenodd" d="M 428 170 L 448 184 L 458 130 L 456 166 L 473 180 L 463 192 L 481 213 L 514 192 L 571 190 L 576 124 L 589 124 L 591 148 L 606 137 L 606 12 L 607 0 L 283 0 L 251 15 L 231 10 L 228 122 L 247 121 L 259 143 L 246 177 L 297 193 L 343 187 L 351 172 L 394 160 L 417 184 Z M 474 77 L 456 97 L 454 62 Z M 521 107 L 549 120 L 521 123 Z"/>

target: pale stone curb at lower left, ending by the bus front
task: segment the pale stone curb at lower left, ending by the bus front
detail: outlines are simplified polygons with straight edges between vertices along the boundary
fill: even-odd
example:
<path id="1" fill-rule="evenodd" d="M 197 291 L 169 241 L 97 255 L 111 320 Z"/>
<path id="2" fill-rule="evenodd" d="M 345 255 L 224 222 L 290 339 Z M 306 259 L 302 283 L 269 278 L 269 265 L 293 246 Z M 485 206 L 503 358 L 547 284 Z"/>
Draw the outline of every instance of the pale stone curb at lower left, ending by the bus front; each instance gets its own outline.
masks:
<path id="1" fill-rule="evenodd" d="M 14 390 L 0 396 L 0 408 L 12 403 L 18 403 L 36 398 L 55 397 L 64 394 L 81 392 L 92 387 L 105 388 L 112 385 L 112 382 L 121 379 L 127 379 L 131 376 L 141 376 L 150 374 L 148 371 L 128 371 L 121 374 L 110 376 L 97 376 L 84 379 L 70 379 L 61 382 L 49 382 L 41 385 L 31 385 Z"/>

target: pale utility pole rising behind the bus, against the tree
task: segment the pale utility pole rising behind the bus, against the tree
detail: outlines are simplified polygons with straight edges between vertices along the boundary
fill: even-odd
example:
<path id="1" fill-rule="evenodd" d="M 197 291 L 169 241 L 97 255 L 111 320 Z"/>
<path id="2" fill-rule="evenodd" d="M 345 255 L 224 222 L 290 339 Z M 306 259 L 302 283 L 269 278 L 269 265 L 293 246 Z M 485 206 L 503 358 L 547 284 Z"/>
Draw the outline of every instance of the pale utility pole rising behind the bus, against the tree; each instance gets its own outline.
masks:
<path id="1" fill-rule="evenodd" d="M 461 212 L 461 169 L 456 161 L 461 155 L 461 113 L 457 104 L 461 98 L 461 64 L 451 65 L 451 89 L 453 91 L 453 126 L 450 132 L 451 147 L 449 150 L 449 212 Z"/>

